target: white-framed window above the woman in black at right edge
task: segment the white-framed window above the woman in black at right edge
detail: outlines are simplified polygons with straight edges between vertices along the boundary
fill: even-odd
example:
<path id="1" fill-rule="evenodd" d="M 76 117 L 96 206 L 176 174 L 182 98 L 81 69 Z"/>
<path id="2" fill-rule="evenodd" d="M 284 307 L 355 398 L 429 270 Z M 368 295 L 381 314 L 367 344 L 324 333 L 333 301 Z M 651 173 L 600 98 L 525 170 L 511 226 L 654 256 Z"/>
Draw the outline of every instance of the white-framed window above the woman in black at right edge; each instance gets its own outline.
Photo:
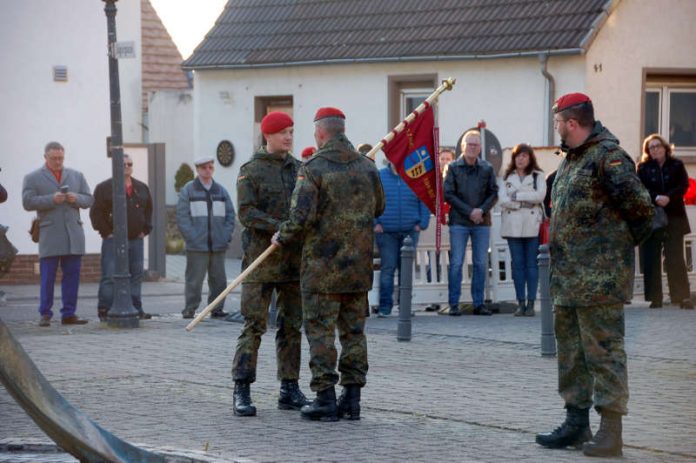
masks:
<path id="1" fill-rule="evenodd" d="M 677 154 L 696 154 L 696 83 L 649 83 L 644 111 L 643 136 L 659 133 Z"/>

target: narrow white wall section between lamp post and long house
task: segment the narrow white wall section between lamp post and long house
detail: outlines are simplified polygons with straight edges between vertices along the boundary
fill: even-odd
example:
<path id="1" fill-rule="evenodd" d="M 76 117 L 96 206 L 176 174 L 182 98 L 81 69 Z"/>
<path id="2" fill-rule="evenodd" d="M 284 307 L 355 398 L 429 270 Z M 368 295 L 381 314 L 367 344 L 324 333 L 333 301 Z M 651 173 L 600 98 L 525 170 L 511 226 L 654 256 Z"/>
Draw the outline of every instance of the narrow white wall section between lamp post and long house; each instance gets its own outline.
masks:
<path id="1" fill-rule="evenodd" d="M 150 143 L 164 143 L 166 203 L 176 204 L 174 176 L 181 163 L 193 168 L 193 96 L 191 90 L 159 90 L 150 94 Z"/>

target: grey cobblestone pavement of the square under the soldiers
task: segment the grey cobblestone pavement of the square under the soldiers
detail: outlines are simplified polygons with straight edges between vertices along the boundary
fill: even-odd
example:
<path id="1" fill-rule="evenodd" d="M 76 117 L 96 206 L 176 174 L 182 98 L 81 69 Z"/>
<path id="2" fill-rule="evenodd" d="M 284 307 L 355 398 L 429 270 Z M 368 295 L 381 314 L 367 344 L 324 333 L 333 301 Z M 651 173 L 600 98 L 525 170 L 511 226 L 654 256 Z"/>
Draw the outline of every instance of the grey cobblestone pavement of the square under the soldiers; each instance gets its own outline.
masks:
<path id="1" fill-rule="evenodd" d="M 536 432 L 563 419 L 556 360 L 540 356 L 540 317 L 418 312 L 410 342 L 396 340 L 396 317 L 371 317 L 362 420 L 316 423 L 276 408 L 272 332 L 264 336 L 252 386 L 258 416 L 233 416 L 230 367 L 241 325 L 206 320 L 187 333 L 181 284 L 145 285 L 147 310 L 160 316 L 133 330 L 94 321 L 93 286 L 81 289 L 78 309 L 92 321 L 70 328 L 36 326 L 37 288 L 3 289 L 8 304 L 0 318 L 53 386 L 136 444 L 207 448 L 205 455 L 240 462 L 588 461 L 580 452 L 534 443 Z M 233 295 L 226 308 L 238 304 Z M 626 313 L 631 400 L 623 461 L 694 462 L 696 312 L 641 303 Z M 301 386 L 309 396 L 307 361 L 304 341 Z M 591 420 L 596 429 L 597 415 Z M 0 389 L 0 442 L 37 439 L 50 442 Z M 0 453 L 0 461 L 74 461 L 36 455 Z"/>

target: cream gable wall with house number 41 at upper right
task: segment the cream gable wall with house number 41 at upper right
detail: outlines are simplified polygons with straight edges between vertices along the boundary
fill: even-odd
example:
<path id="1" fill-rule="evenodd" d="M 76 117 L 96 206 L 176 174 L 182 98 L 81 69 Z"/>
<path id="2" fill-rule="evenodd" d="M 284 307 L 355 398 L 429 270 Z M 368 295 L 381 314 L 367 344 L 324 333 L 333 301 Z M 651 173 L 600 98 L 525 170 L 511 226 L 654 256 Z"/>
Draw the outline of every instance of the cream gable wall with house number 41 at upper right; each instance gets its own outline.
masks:
<path id="1" fill-rule="evenodd" d="M 587 92 L 596 117 L 634 158 L 642 142 L 643 69 L 696 73 L 695 21 L 693 0 L 622 1 L 587 53 Z"/>

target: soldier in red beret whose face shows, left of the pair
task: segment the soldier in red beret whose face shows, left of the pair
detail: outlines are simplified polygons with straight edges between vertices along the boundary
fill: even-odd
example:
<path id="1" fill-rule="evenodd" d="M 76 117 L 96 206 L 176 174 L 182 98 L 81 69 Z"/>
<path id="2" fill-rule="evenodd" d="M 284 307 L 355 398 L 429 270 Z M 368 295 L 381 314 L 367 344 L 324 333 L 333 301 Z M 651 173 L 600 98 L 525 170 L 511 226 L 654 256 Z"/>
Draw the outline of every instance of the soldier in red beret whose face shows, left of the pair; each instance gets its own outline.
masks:
<path id="1" fill-rule="evenodd" d="M 290 198 L 301 164 L 289 153 L 293 139 L 290 116 L 269 113 L 261 121 L 261 131 L 267 146 L 259 149 L 251 161 L 239 169 L 237 177 L 239 221 L 244 226 L 242 268 L 263 253 L 280 223 L 288 218 Z M 276 250 L 242 285 L 244 328 L 237 340 L 232 367 L 235 415 L 256 415 L 249 385 L 256 380 L 257 355 L 261 336 L 266 332 L 268 305 L 274 289 L 278 293 L 276 354 L 281 381 L 278 408 L 299 410 L 308 403 L 297 384 L 302 345 L 300 253 L 297 244 Z"/>

